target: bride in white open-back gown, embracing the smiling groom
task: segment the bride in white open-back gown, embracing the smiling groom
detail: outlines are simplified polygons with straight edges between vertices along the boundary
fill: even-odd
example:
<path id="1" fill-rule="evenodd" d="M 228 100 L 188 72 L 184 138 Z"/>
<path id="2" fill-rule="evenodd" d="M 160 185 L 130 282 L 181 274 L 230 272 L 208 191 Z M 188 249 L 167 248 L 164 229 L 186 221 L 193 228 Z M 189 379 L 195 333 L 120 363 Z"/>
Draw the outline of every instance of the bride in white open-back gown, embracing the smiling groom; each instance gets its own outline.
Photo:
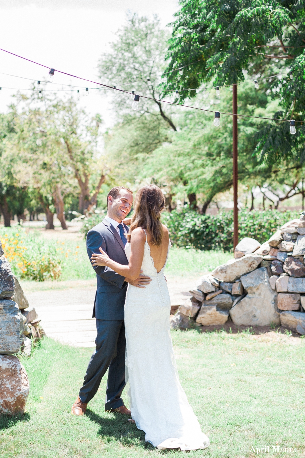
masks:
<path id="1" fill-rule="evenodd" d="M 134 202 L 128 242 L 128 266 L 112 261 L 100 248 L 94 266 L 107 266 L 118 274 L 151 277 L 145 289 L 128 284 L 125 314 L 126 381 L 133 421 L 145 440 L 160 450 L 196 450 L 209 446 L 179 382 L 170 334 L 171 302 L 163 271 L 171 245 L 161 224 L 164 195 L 155 185 L 139 189 Z"/>

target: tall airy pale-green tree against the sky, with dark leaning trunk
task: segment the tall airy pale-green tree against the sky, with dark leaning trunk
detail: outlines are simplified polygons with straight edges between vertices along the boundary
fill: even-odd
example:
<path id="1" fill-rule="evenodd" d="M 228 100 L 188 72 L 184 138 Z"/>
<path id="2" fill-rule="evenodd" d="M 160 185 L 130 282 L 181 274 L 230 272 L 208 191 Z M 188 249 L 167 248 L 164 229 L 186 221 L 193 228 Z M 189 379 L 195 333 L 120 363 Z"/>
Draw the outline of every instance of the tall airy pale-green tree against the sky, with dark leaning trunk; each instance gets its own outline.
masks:
<path id="1" fill-rule="evenodd" d="M 117 32 L 118 39 L 111 43 L 111 50 L 99 61 L 99 76 L 103 83 L 128 92 L 147 97 L 161 98 L 161 76 L 165 68 L 168 33 L 160 27 L 160 20 L 128 14 L 127 23 Z M 131 112 L 132 99 L 129 94 L 114 91 L 114 107 L 121 118 Z M 151 113 L 163 118 L 176 131 L 170 109 L 164 110 L 161 102 L 140 98 L 139 115 Z"/>

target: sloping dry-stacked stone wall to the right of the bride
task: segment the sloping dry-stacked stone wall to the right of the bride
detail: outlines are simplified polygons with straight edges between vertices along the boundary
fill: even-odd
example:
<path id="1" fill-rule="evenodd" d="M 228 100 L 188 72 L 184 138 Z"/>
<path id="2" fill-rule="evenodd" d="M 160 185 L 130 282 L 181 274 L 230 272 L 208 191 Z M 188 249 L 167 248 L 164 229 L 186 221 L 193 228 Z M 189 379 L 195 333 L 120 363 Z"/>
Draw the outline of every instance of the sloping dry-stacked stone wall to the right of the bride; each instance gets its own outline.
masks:
<path id="1" fill-rule="evenodd" d="M 245 237 L 234 259 L 200 278 L 180 305 L 172 328 L 281 324 L 305 335 L 305 212 L 262 245 Z M 303 308 L 304 307 L 304 308 Z"/>

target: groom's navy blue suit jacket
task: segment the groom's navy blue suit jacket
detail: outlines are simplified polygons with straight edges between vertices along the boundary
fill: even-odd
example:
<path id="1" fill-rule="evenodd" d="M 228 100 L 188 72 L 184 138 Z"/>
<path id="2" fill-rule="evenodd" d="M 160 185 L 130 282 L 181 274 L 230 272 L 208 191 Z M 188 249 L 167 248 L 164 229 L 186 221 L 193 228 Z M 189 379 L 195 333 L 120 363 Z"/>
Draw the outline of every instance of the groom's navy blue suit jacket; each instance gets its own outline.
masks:
<path id="1" fill-rule="evenodd" d="M 125 228 L 128 232 L 128 227 L 125 226 Z M 92 253 L 100 253 L 100 247 L 113 261 L 125 266 L 128 265 L 121 237 L 107 219 L 94 226 L 87 234 L 89 259 Z M 92 318 L 97 320 L 123 320 L 127 290 L 125 277 L 106 266 L 93 268 L 96 272 L 97 286 Z"/>

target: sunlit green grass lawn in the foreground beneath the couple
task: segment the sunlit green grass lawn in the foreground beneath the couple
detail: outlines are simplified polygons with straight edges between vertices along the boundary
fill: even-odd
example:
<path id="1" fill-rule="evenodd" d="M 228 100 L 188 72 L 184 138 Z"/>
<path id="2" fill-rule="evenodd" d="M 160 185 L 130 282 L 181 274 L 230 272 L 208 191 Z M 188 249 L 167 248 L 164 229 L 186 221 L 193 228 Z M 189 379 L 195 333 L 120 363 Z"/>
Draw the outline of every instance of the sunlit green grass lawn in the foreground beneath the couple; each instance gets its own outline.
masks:
<path id="1" fill-rule="evenodd" d="M 16 420 L 0 418 L 0 456 L 242 458 L 268 446 L 268 456 L 283 456 L 273 453 L 278 444 L 297 448 L 289 456 L 304 457 L 305 340 L 273 335 L 172 332 L 182 386 L 211 442 L 187 455 L 156 450 L 124 416 L 105 413 L 106 378 L 87 414 L 73 416 L 71 404 L 92 349 L 46 338 L 22 360 L 31 386 L 26 413 Z"/>

